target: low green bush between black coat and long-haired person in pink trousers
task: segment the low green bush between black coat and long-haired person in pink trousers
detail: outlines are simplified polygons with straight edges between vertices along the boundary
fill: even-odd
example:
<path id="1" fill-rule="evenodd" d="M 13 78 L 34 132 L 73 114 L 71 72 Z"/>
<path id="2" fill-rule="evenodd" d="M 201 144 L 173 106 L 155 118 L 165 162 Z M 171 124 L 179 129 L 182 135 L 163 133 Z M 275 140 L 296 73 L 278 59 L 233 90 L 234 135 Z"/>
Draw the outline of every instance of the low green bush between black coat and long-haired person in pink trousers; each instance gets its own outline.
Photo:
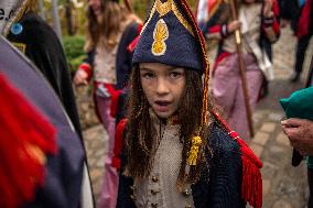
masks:
<path id="1" fill-rule="evenodd" d="M 66 59 L 69 66 L 69 69 L 76 70 L 86 58 L 84 52 L 85 37 L 82 35 L 76 36 L 64 36 L 63 37 L 63 47 L 65 51 Z"/>

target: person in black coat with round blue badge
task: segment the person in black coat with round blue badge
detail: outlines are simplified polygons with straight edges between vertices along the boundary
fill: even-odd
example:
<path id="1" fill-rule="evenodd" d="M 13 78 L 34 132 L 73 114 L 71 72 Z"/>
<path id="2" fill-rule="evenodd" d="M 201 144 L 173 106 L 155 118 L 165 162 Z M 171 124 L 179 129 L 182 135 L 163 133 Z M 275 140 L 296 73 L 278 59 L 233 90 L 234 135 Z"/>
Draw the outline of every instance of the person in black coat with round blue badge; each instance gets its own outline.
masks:
<path id="1" fill-rule="evenodd" d="M 80 139 L 82 129 L 62 44 L 53 29 L 35 12 L 37 0 L 1 0 L 6 13 L 2 34 L 41 70 L 64 106 Z M 14 12 L 13 12 L 14 11 Z M 6 18 L 0 19 L 0 22 Z M 1 24 L 0 24 L 1 25 Z"/>

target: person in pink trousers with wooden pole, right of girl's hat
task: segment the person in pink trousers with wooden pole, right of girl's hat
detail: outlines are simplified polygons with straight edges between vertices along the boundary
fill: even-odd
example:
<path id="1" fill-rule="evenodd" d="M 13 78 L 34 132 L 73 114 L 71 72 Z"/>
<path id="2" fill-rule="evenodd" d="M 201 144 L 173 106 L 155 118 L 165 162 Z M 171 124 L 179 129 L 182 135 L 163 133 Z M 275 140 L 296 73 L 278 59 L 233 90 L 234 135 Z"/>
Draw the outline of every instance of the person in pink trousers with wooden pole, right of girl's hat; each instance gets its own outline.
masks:
<path id="1" fill-rule="evenodd" d="M 224 11 L 230 13 L 229 11 Z M 240 28 L 244 63 L 250 108 L 256 108 L 266 80 L 273 78 L 270 63 L 271 46 L 278 40 L 278 4 L 276 0 L 242 0 L 239 20 L 209 28 L 208 37 L 219 40 L 219 52 L 213 74 L 213 96 L 223 108 L 229 125 L 248 140 L 248 123 L 234 32 Z M 267 52 L 268 53 L 267 53 Z"/>

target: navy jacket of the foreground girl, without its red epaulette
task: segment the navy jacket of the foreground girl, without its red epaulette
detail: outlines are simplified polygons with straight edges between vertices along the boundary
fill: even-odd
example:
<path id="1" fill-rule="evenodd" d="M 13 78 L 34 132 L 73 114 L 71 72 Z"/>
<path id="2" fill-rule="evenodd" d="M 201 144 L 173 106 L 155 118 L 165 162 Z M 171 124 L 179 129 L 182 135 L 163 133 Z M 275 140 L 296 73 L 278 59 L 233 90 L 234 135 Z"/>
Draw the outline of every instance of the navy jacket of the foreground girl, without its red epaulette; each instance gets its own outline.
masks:
<path id="1" fill-rule="evenodd" d="M 217 122 L 214 122 L 211 124 L 208 144 L 213 151 L 213 157 L 207 154 L 207 160 L 211 164 L 208 178 L 205 178 L 207 174 L 203 174 L 203 177 L 195 185 L 192 185 L 195 207 L 245 207 L 246 205 L 240 198 L 242 167 L 238 143 Z M 122 160 L 122 163 L 125 163 L 125 156 Z M 120 176 L 118 208 L 136 207 L 130 198 L 132 194 L 131 185 L 131 178 L 127 178 L 123 175 Z"/>

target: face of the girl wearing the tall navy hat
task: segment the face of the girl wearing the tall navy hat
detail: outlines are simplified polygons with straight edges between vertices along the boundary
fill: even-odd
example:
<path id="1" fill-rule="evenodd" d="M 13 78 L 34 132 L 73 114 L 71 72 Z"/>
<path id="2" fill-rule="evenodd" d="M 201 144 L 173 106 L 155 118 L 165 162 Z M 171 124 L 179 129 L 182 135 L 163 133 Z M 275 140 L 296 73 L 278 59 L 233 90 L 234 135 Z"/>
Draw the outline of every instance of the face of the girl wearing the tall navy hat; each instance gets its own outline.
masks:
<path id="1" fill-rule="evenodd" d="M 143 92 L 154 113 L 164 119 L 173 116 L 185 89 L 184 68 L 161 63 L 141 63 L 139 68 Z"/>

